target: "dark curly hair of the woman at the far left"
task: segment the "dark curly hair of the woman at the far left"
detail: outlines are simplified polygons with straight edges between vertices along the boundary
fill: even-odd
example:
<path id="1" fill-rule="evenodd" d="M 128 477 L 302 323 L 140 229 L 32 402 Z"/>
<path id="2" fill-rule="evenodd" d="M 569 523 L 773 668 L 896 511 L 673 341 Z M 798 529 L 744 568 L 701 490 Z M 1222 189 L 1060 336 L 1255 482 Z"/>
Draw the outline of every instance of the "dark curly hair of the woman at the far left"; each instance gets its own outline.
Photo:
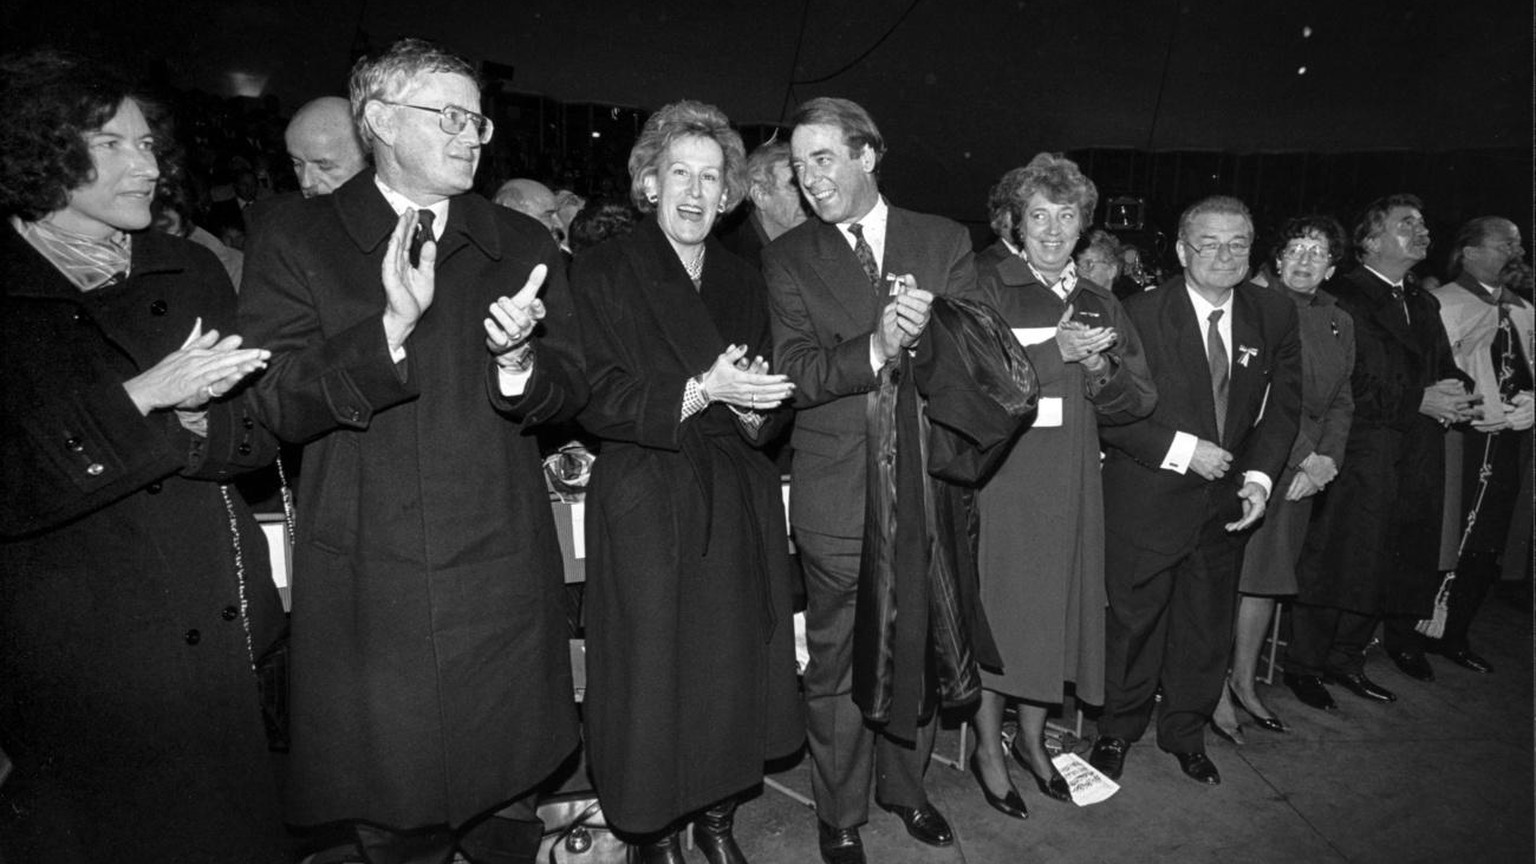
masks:
<path id="1" fill-rule="evenodd" d="M 54 49 L 0 58 L 0 212 L 34 221 L 63 209 L 95 178 L 86 135 L 129 100 L 158 151 L 167 140 L 160 106 L 111 66 Z"/>

